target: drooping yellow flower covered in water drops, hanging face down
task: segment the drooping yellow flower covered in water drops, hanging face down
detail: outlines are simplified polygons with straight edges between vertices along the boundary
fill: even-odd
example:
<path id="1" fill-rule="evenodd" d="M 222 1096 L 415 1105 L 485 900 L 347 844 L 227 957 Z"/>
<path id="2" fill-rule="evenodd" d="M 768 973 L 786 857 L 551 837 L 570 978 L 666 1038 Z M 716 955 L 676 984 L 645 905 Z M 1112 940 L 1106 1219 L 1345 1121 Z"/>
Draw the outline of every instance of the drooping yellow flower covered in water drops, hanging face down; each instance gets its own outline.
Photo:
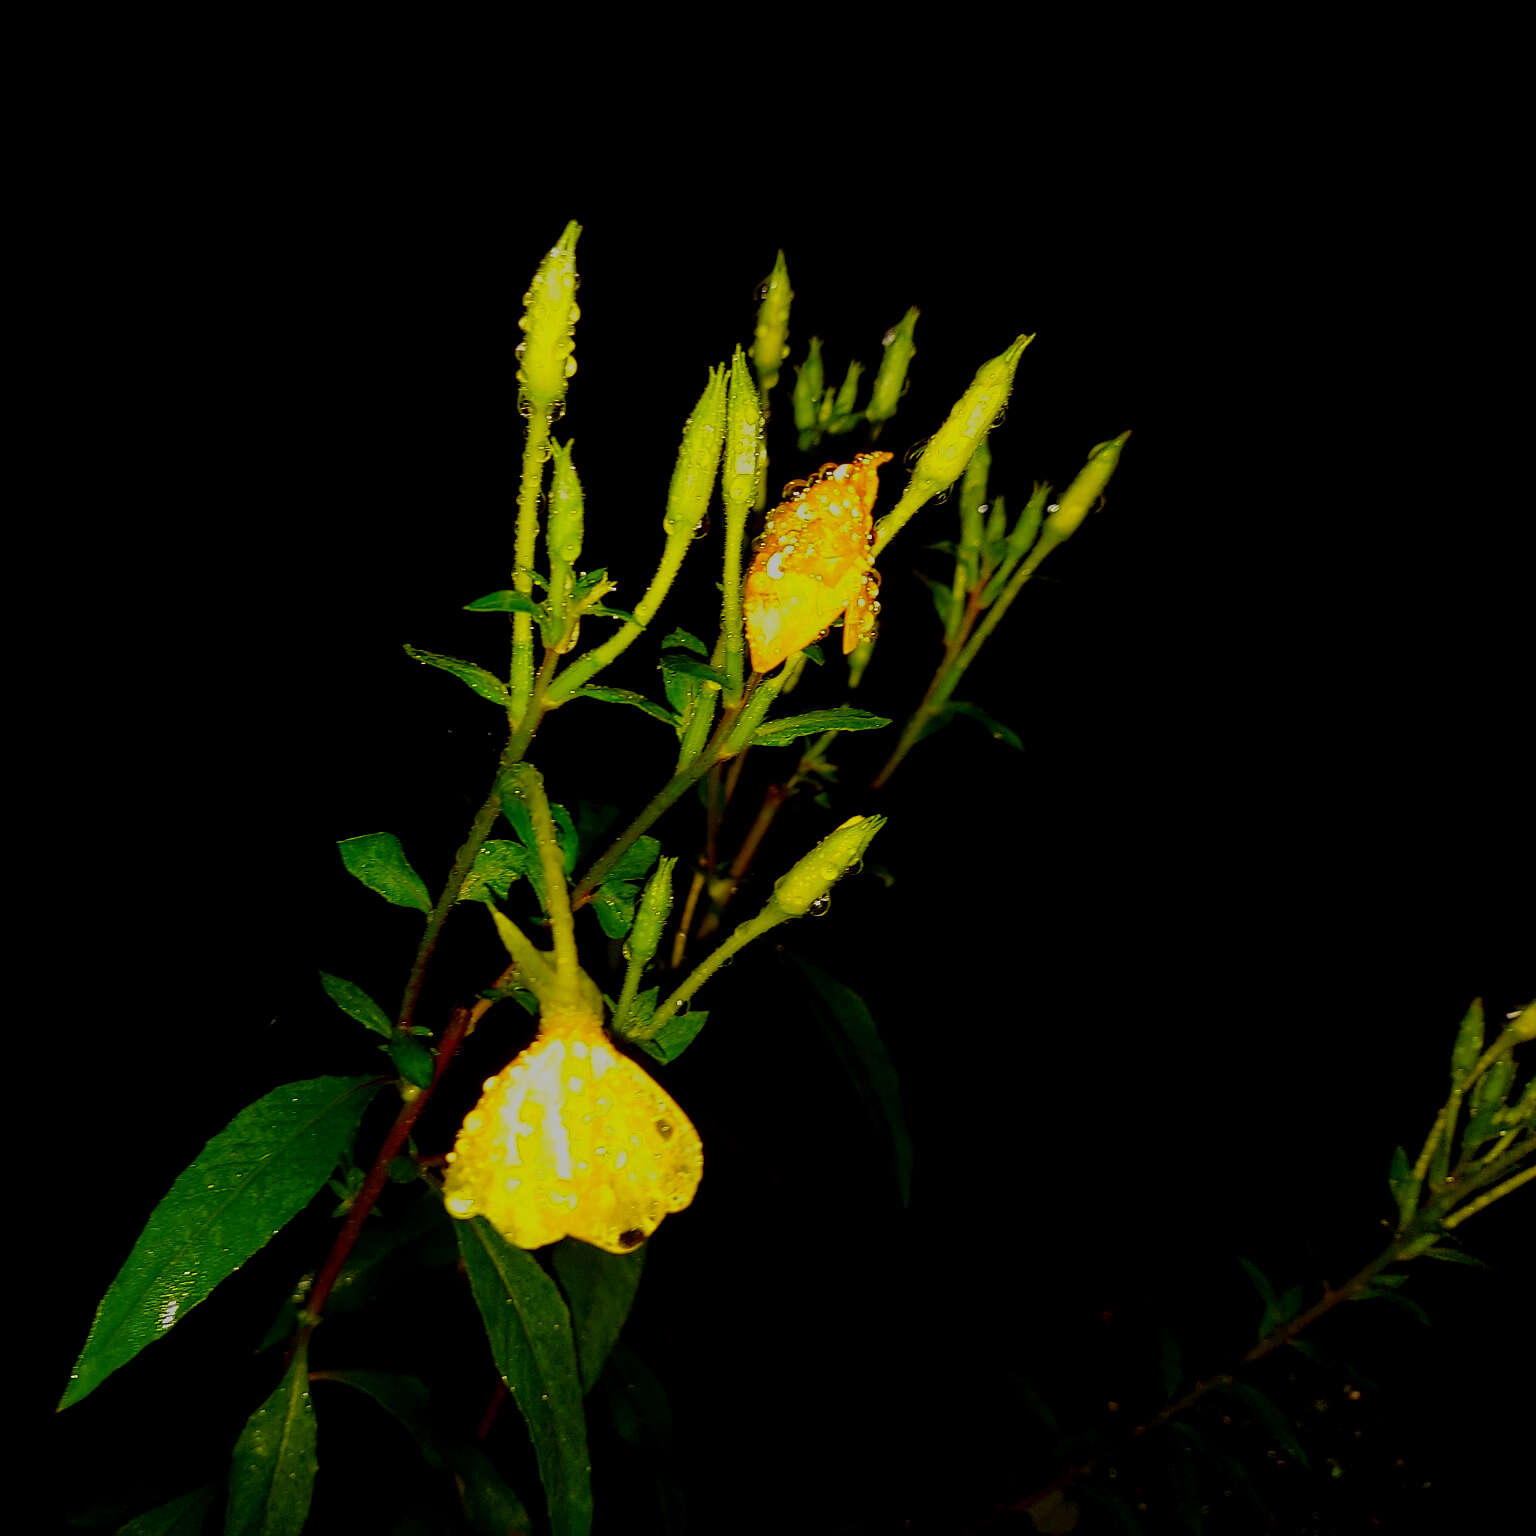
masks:
<path id="1" fill-rule="evenodd" d="M 628 1253 L 699 1187 L 699 1132 L 585 1014 L 539 1035 L 485 1081 L 449 1154 L 449 1215 L 484 1217 L 508 1243 L 581 1238 Z"/>

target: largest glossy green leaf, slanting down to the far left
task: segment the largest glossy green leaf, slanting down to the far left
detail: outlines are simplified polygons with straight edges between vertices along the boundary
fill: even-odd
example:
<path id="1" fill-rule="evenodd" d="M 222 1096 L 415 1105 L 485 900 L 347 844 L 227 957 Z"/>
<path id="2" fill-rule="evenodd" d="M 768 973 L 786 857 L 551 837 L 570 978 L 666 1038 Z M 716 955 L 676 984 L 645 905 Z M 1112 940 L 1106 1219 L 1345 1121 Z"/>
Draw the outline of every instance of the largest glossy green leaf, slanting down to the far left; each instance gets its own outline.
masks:
<path id="1" fill-rule="evenodd" d="M 367 1077 L 286 1083 L 207 1143 L 101 1298 L 60 1409 L 180 1322 L 315 1198 L 375 1087 Z"/>

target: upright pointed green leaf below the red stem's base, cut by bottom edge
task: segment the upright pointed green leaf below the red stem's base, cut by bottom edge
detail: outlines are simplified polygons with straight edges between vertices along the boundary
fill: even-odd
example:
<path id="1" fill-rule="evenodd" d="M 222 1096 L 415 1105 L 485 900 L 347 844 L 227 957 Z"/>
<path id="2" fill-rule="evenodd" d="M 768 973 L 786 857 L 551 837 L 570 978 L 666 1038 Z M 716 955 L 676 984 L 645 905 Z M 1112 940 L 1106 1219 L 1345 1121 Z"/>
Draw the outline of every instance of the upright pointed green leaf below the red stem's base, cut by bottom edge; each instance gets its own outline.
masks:
<path id="1" fill-rule="evenodd" d="M 300 1344 L 276 1392 L 250 1415 L 235 1442 L 224 1536 L 300 1536 L 318 1467 L 309 1347 Z"/>

